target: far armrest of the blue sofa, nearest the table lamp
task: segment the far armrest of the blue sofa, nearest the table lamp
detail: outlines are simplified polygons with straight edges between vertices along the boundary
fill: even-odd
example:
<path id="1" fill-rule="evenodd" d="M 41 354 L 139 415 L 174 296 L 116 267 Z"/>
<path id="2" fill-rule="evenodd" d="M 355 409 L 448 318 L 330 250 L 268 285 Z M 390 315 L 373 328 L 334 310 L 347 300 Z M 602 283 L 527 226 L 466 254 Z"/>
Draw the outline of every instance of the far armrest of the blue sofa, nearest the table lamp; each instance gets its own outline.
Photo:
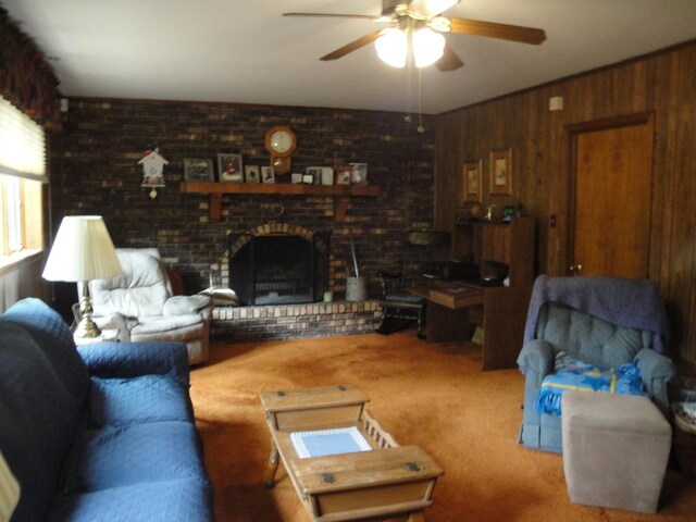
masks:
<path id="1" fill-rule="evenodd" d="M 156 373 L 189 386 L 184 343 L 107 343 L 79 346 L 77 350 L 94 376 L 128 378 Z"/>

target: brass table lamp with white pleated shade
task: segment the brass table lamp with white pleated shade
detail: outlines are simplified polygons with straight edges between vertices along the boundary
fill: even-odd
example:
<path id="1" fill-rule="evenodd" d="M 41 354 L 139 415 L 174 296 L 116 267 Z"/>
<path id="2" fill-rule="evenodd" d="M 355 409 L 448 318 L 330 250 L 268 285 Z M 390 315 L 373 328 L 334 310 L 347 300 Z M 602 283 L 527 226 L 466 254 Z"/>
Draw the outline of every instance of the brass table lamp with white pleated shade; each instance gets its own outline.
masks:
<path id="1" fill-rule="evenodd" d="M 44 278 L 82 285 L 82 319 L 75 328 L 77 337 L 98 337 L 101 334 L 91 319 L 94 310 L 89 299 L 89 282 L 122 273 L 111 236 L 100 215 L 63 217 L 44 269 Z"/>

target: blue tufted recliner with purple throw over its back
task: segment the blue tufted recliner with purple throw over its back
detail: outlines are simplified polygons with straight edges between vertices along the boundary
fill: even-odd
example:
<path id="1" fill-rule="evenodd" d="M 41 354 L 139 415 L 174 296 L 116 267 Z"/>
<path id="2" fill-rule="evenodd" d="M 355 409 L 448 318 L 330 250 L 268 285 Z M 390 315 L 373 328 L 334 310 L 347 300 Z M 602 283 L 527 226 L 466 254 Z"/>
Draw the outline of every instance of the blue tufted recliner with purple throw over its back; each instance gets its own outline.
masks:
<path id="1" fill-rule="evenodd" d="M 667 383 L 674 375 L 674 365 L 660 355 L 667 340 L 667 313 L 654 282 L 539 276 L 518 358 L 526 375 L 520 443 L 562 451 L 560 417 L 540 413 L 536 402 L 544 377 L 569 359 L 610 369 L 634 362 L 645 390 L 669 418 Z"/>

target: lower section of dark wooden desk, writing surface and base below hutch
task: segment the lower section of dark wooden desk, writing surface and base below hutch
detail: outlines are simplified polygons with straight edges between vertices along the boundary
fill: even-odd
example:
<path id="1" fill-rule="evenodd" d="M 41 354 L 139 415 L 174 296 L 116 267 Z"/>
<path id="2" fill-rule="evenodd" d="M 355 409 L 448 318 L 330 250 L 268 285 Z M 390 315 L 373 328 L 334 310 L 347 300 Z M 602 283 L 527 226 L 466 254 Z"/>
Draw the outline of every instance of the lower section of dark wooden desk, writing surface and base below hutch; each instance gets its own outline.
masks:
<path id="1" fill-rule="evenodd" d="M 517 365 L 531 286 L 480 287 L 435 281 L 433 286 L 417 286 L 409 291 L 427 299 L 425 339 L 430 343 L 470 340 L 473 325 L 469 308 L 483 304 L 483 370 Z"/>

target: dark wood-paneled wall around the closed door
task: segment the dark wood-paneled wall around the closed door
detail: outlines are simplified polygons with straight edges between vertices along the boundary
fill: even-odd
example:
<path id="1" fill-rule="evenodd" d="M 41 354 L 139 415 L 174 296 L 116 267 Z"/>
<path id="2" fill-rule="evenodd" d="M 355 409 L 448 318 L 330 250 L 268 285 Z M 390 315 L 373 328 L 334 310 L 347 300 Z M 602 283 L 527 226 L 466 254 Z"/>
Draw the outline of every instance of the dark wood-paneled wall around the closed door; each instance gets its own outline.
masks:
<path id="1" fill-rule="evenodd" d="M 465 85 L 462 88 L 467 88 Z M 562 111 L 549 111 L 551 97 Z M 483 159 L 483 203 L 522 203 L 537 223 L 537 273 L 567 274 L 569 126 L 652 112 L 649 276 L 668 303 L 670 355 L 696 374 L 696 41 L 445 113 L 437 119 L 435 224 L 450 229 L 462 163 Z M 512 148 L 512 196 L 490 196 L 489 153 Z M 555 217 L 556 225 L 551 224 Z"/>

